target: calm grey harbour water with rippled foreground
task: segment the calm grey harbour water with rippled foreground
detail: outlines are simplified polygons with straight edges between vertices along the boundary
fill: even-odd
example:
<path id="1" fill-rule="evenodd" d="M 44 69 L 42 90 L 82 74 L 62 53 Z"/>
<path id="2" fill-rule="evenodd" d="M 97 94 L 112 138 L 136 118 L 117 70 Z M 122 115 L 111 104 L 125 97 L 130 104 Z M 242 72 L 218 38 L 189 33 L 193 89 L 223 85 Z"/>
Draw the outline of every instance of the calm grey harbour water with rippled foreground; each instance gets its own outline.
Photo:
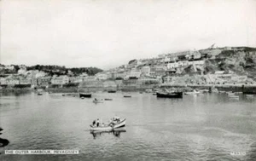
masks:
<path id="1" fill-rule="evenodd" d="M 255 160 L 256 95 L 96 93 L 92 99 L 61 94 L 1 95 L 1 160 Z M 126 132 L 91 135 L 95 118 L 127 118 Z M 12 149 L 79 149 L 79 155 L 5 155 Z M 232 156 L 230 152 L 246 152 Z"/>

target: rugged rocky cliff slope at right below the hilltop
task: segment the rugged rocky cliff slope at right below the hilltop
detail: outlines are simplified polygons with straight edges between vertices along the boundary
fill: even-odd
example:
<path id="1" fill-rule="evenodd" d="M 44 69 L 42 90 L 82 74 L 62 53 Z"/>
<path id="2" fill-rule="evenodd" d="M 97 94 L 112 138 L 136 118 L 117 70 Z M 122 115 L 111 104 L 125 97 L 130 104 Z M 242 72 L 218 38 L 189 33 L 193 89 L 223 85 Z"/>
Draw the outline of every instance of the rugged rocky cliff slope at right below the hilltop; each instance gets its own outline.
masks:
<path id="1" fill-rule="evenodd" d="M 247 75 L 248 78 L 253 78 L 256 81 L 256 49 L 223 49 L 219 54 L 213 55 L 213 58 L 205 60 L 205 66 L 199 68 L 195 72 L 193 66 L 187 66 L 183 70 L 183 74 L 195 75 L 211 74 L 217 71 L 224 71 L 225 73 L 235 73 L 237 75 Z"/>

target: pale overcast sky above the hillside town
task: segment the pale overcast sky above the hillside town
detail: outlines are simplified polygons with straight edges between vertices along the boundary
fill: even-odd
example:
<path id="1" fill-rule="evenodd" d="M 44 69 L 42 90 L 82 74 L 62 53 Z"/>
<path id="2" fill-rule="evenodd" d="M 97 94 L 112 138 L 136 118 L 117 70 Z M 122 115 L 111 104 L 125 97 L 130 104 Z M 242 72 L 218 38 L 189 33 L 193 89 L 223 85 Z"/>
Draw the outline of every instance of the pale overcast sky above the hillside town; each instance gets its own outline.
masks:
<path id="1" fill-rule="evenodd" d="M 256 0 L 1 0 L 0 63 L 96 66 L 256 47 Z"/>

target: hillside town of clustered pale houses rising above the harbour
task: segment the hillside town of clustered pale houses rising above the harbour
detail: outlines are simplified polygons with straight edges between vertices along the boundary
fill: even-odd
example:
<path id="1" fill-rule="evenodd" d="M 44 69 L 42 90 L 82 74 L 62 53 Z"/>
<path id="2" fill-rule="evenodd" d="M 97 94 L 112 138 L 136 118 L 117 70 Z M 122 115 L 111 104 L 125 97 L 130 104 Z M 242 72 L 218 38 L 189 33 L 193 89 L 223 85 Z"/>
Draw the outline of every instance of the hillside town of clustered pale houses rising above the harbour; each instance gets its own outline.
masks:
<path id="1" fill-rule="evenodd" d="M 11 73 L 15 71 L 15 66 L 1 65 L 0 86 L 1 89 L 69 86 L 138 88 L 138 86 L 150 87 L 160 84 L 253 84 L 255 78 L 250 71 L 247 72 L 247 69 L 253 68 L 255 62 L 256 49 L 217 48 L 213 44 L 208 49 L 187 50 L 162 54 L 151 59 L 130 60 L 127 65 L 98 72 L 95 75 L 86 72 L 75 75 L 70 70 L 50 75 L 49 72 L 40 70 L 27 70 L 25 65 L 20 65 L 16 73 Z"/>

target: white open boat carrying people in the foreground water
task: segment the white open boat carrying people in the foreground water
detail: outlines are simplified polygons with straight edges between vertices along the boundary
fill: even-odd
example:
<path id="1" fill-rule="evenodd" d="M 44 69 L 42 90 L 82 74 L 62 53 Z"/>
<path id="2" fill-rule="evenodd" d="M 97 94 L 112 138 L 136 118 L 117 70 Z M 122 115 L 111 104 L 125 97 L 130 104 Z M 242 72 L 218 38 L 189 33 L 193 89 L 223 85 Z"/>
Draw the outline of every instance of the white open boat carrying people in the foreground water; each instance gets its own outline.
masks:
<path id="1" fill-rule="evenodd" d="M 96 125 L 90 124 L 90 131 L 112 131 L 114 129 L 119 129 L 125 127 L 126 119 L 120 119 L 119 117 L 114 117 L 109 124 L 101 124 L 98 127 Z"/>

